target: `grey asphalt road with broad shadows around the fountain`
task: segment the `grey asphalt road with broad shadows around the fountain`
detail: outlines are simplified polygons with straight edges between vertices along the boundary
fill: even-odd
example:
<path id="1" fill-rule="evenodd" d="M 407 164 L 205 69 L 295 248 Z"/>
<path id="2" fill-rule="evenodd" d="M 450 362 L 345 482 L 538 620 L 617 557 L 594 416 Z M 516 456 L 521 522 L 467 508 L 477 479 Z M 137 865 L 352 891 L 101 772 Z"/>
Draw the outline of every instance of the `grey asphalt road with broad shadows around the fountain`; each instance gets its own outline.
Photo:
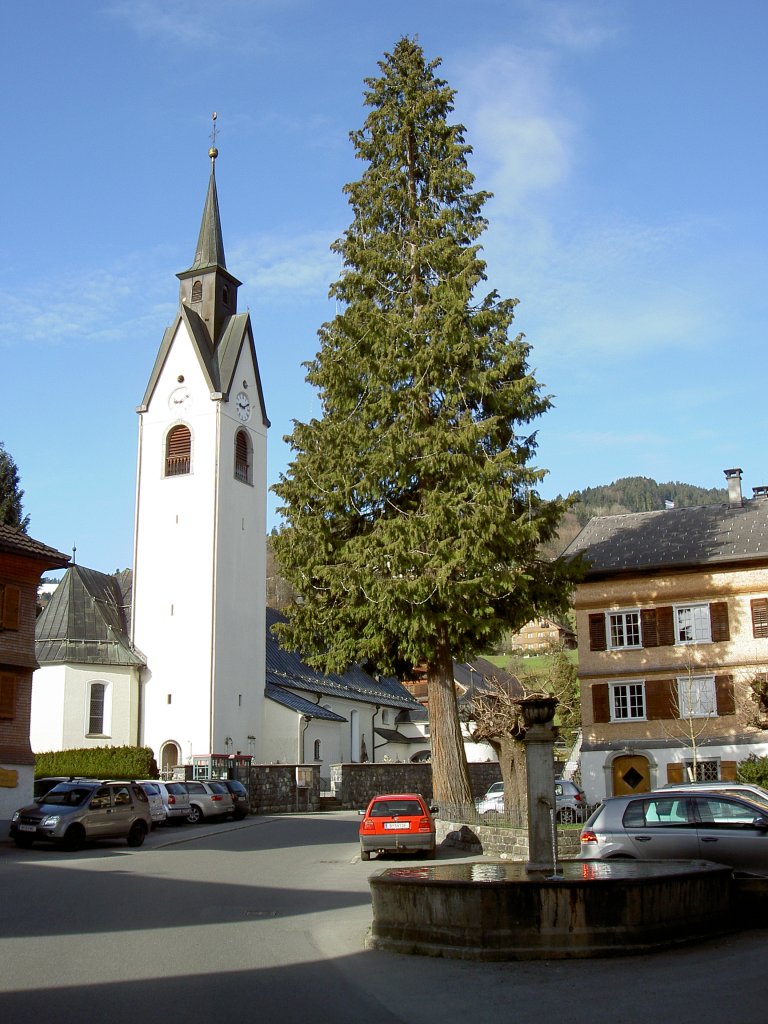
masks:
<path id="1" fill-rule="evenodd" d="M 601 961 L 364 950 L 368 878 L 395 861 L 360 862 L 357 821 L 255 817 L 77 854 L 0 842 L 0 1022 L 768 1020 L 768 930 Z"/>

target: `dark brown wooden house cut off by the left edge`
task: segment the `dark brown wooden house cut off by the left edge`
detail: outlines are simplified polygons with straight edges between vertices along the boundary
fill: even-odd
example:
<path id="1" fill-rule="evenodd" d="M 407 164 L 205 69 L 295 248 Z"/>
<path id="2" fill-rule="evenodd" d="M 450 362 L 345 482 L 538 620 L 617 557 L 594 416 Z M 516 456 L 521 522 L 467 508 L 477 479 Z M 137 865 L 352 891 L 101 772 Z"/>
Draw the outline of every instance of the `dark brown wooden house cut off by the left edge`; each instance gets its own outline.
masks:
<path id="1" fill-rule="evenodd" d="M 0 525 L 0 818 L 32 799 L 30 743 L 35 616 L 40 577 L 62 568 L 67 555 Z"/>

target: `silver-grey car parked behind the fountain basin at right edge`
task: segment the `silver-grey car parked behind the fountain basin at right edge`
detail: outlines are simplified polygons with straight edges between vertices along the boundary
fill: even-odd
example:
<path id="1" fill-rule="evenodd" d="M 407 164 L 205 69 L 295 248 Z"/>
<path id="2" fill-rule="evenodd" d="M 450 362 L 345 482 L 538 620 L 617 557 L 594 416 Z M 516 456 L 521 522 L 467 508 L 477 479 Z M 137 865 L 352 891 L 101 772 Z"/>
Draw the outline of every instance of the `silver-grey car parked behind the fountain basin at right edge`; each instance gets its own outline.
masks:
<path id="1" fill-rule="evenodd" d="M 609 797 L 582 829 L 582 860 L 712 860 L 768 874 L 768 809 L 723 790 Z"/>

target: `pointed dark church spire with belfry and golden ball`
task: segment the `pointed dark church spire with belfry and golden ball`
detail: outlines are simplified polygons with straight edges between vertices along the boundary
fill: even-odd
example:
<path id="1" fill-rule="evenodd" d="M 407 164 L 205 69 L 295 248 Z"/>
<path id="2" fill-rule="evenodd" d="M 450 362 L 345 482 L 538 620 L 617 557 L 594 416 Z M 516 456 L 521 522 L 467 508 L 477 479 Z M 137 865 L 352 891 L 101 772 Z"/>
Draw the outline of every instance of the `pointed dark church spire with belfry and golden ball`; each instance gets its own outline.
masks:
<path id="1" fill-rule="evenodd" d="M 195 261 L 188 270 L 176 276 L 181 282 L 179 299 L 182 305 L 195 310 L 208 328 L 211 346 L 215 347 L 224 325 L 238 311 L 240 282 L 226 269 L 224 242 L 221 234 L 219 200 L 216 191 L 216 115 L 213 115 L 213 142 L 208 151 L 211 158 L 211 177 L 203 208 Z"/>

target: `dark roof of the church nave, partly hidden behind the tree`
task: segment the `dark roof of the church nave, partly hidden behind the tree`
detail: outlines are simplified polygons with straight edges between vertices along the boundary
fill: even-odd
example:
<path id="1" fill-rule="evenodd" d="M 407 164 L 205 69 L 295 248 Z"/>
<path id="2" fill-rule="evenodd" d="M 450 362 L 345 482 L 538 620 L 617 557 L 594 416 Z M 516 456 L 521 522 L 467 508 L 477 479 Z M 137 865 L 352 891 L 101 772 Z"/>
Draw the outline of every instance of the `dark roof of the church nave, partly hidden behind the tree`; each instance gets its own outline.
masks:
<path id="1" fill-rule="evenodd" d="M 382 708 L 402 708 L 417 711 L 419 703 L 397 680 L 377 680 L 359 666 L 352 666 L 343 675 L 325 675 L 302 662 L 296 651 L 284 650 L 272 633 L 272 626 L 285 622 L 273 608 L 266 609 L 266 681 L 273 686 L 307 690 L 328 696 L 344 697 L 379 705 Z M 314 707 L 314 706 L 313 706 Z"/>

